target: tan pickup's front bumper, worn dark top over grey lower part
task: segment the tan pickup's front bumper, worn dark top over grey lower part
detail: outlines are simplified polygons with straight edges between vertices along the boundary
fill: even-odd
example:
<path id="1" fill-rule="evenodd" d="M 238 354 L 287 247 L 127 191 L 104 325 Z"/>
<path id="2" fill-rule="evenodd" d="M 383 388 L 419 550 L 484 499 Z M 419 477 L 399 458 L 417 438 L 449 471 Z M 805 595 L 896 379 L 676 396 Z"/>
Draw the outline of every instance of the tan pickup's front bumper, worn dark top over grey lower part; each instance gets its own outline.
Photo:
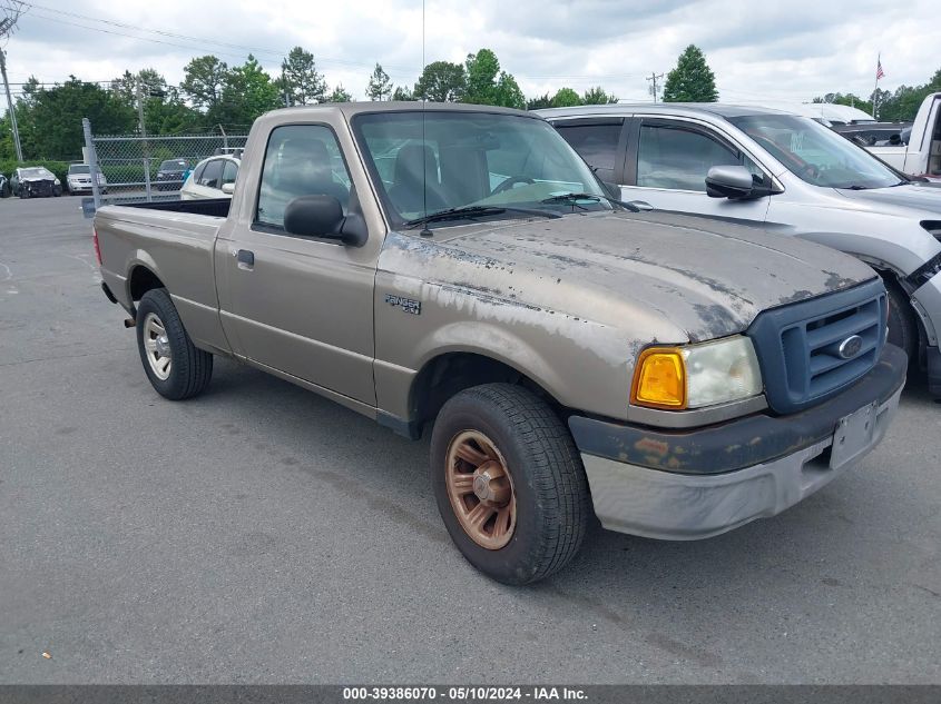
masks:
<path id="1" fill-rule="evenodd" d="M 626 432 L 608 435 L 608 452 L 599 452 L 602 429 L 597 425 L 614 424 L 572 416 L 569 426 L 595 513 L 610 531 L 672 541 L 712 537 L 774 516 L 879 444 L 899 406 L 906 361 L 904 353 L 886 345 L 876 367 L 851 388 L 790 416 L 757 414 L 680 433 L 617 426 Z M 871 435 L 852 456 L 831 462 L 841 419 L 868 405 L 874 406 Z M 724 447 L 716 444 L 719 439 Z"/>

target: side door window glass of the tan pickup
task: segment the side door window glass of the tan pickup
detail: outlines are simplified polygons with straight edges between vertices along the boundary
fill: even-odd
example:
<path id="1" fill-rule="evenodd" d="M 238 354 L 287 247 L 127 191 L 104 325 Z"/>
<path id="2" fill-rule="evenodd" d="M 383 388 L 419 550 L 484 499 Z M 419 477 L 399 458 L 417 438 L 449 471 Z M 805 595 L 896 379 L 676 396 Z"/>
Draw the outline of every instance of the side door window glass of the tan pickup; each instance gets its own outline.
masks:
<path id="1" fill-rule="evenodd" d="M 346 212 L 350 172 L 333 131 L 322 125 L 286 125 L 272 131 L 262 169 L 255 220 L 284 227 L 284 210 L 302 196 L 333 196 Z"/>

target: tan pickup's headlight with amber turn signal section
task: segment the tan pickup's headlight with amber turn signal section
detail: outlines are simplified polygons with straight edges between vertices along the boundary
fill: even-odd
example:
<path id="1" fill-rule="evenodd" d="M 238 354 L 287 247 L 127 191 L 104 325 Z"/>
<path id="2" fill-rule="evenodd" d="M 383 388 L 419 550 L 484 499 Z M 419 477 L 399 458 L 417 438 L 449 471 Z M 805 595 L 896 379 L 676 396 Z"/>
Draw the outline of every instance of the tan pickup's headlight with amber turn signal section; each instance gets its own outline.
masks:
<path id="1" fill-rule="evenodd" d="M 630 403 L 683 410 L 762 393 L 752 340 L 742 335 L 687 347 L 649 347 L 637 359 Z"/>

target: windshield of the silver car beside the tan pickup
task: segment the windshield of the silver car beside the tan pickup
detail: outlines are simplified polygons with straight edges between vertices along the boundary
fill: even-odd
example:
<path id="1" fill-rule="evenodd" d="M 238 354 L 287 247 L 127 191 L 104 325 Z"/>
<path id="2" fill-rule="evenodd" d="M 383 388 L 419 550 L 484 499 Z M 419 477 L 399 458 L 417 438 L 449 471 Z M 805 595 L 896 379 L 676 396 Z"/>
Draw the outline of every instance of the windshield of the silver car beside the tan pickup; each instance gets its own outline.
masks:
<path id="1" fill-rule="evenodd" d="M 749 115 L 728 119 L 781 161 L 787 170 L 825 188 L 886 188 L 899 177 L 868 151 L 813 120 L 791 115 Z"/>

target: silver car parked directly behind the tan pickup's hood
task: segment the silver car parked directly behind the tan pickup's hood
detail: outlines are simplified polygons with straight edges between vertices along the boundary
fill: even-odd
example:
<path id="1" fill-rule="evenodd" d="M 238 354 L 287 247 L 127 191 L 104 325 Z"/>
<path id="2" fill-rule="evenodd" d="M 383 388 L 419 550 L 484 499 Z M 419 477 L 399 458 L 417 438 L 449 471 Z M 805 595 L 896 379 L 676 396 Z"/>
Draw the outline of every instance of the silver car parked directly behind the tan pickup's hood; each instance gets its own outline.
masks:
<path id="1" fill-rule="evenodd" d="M 852 254 L 889 289 L 890 341 L 941 397 L 941 189 L 910 184 L 814 120 L 757 107 L 540 111 L 621 197 Z"/>

